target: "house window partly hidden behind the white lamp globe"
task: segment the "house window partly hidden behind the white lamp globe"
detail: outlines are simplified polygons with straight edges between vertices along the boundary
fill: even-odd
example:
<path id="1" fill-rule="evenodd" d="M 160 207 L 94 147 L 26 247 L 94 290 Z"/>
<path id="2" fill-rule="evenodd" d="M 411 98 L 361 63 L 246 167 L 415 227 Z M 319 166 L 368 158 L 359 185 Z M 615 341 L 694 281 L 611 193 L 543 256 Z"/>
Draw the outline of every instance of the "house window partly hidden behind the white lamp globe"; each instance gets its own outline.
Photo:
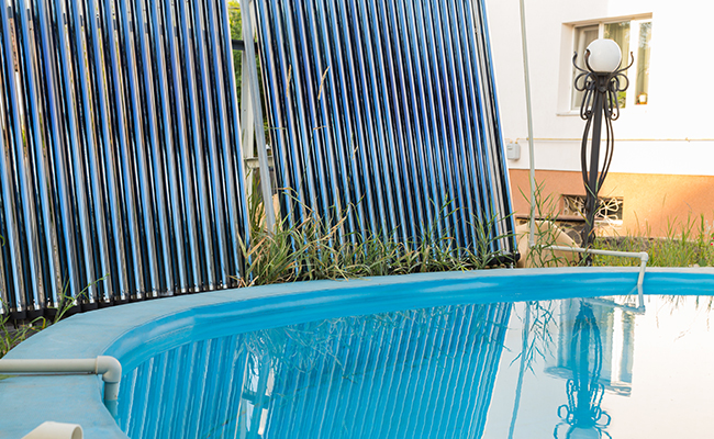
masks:
<path id="1" fill-rule="evenodd" d="M 621 68 L 626 67 L 629 61 L 629 54 L 635 57 L 635 64 L 626 71 L 629 79 L 629 88 L 620 92 L 617 102 L 621 109 L 628 105 L 646 105 L 649 102 L 649 52 L 651 40 L 651 19 L 624 20 L 613 22 L 601 22 L 574 27 L 574 52 L 578 53 L 576 63 L 584 68 L 585 48 L 598 38 L 610 38 L 615 41 L 622 50 L 623 58 Z M 634 37 L 633 37 L 634 35 Z M 572 81 L 578 71 L 572 69 Z M 582 103 L 582 92 L 576 90 L 571 85 L 570 109 L 579 110 Z M 628 94 L 632 94 L 629 97 Z"/>

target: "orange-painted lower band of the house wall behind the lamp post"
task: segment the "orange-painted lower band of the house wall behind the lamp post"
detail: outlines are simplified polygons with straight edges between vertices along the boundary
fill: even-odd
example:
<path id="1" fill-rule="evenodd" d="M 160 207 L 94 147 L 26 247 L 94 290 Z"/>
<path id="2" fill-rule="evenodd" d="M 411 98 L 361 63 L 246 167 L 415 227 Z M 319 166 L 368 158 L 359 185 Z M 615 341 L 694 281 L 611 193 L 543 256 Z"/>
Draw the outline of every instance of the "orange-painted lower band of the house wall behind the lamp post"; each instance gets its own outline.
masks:
<path id="1" fill-rule="evenodd" d="M 516 216 L 527 215 L 529 203 L 521 192 L 529 196 L 528 170 L 511 169 L 509 173 L 513 210 Z M 585 194 L 580 172 L 536 171 L 536 181 L 545 184 L 544 196 Z M 687 222 L 688 215 L 699 222 L 703 214 L 706 225 L 714 226 L 714 177 L 611 172 L 600 196 L 623 198 L 618 234 L 650 230 L 651 236 L 666 236 L 668 225 Z"/>

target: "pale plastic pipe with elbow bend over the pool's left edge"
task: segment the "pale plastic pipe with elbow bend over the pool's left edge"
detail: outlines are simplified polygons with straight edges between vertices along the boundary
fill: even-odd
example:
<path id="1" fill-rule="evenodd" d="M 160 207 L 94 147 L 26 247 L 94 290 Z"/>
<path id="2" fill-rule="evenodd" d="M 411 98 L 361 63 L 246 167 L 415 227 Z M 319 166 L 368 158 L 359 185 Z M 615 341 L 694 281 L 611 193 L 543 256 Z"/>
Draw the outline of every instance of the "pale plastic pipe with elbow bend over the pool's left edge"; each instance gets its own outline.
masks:
<path id="1" fill-rule="evenodd" d="M 122 364 L 114 357 L 79 360 L 0 360 L 0 373 L 93 373 L 102 375 L 104 402 L 119 397 Z"/>

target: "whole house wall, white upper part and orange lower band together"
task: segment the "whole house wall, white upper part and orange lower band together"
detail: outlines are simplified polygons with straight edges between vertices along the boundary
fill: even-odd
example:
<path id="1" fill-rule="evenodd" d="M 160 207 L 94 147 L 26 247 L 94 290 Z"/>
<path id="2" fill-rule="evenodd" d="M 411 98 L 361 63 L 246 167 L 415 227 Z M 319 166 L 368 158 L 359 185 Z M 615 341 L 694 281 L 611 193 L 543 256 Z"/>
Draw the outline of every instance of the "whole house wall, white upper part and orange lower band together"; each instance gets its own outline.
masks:
<path id="1" fill-rule="evenodd" d="M 705 55 L 714 3 L 682 0 L 580 2 L 528 0 L 526 22 L 535 165 L 553 194 L 584 193 L 580 144 L 584 122 L 570 110 L 574 26 L 651 16 L 649 100 L 628 104 L 613 122 L 615 150 L 601 195 L 622 193 L 623 227 L 646 221 L 660 234 L 667 218 L 705 214 L 714 205 L 714 88 L 707 77 L 714 60 Z M 528 132 L 518 2 L 487 0 L 504 144 L 521 147 L 509 160 L 514 210 L 524 209 Z M 631 38 L 636 35 L 631 35 Z M 634 95 L 634 85 L 631 86 Z M 631 101 L 632 102 L 632 101 Z M 526 191 L 527 192 L 527 191 Z M 714 199 L 714 196 L 711 196 Z M 527 211 L 527 204 L 525 205 Z"/>

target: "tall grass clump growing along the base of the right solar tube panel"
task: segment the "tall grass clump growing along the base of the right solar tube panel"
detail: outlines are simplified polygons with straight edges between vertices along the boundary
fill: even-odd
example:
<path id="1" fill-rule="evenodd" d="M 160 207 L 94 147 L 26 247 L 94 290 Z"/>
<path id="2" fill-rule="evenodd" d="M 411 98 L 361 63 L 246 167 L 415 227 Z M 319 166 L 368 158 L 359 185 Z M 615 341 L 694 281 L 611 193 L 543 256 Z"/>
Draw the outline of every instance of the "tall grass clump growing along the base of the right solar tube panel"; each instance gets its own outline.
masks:
<path id="1" fill-rule="evenodd" d="M 250 246 L 243 246 L 246 285 L 478 270 L 499 263 L 504 255 L 494 250 L 494 243 L 507 237 L 494 234 L 494 217 L 473 221 L 473 249 L 459 247 L 454 238 L 434 232 L 427 232 L 419 241 L 402 243 L 386 237 L 391 234 L 345 232 L 349 212 L 322 218 L 306 207 L 301 223 L 290 225 L 282 219 L 275 230 L 267 230 L 261 226 L 261 203 L 250 202 L 253 240 Z"/>

